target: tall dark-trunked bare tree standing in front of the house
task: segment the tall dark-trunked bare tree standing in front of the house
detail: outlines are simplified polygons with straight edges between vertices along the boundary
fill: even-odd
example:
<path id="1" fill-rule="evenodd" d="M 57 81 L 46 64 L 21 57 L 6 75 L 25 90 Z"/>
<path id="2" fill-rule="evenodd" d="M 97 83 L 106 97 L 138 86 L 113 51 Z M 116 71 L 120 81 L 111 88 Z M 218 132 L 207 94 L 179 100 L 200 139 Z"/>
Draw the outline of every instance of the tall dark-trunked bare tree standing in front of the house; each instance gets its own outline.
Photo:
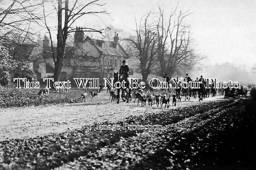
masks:
<path id="1" fill-rule="evenodd" d="M 82 0 L 80 0 L 82 2 Z M 48 26 L 48 23 L 46 21 L 46 17 L 49 14 L 46 14 L 45 11 L 45 5 L 43 4 L 43 13 L 45 19 L 43 20 L 45 27 L 47 28 L 50 36 L 50 42 L 51 42 L 51 53 L 54 61 L 54 81 L 60 80 L 60 74 L 61 74 L 61 67 L 63 62 L 63 56 L 65 54 L 65 47 L 66 47 L 66 41 L 68 38 L 68 35 L 72 32 L 76 31 L 76 28 L 73 26 L 76 21 L 79 21 L 82 17 L 88 16 L 88 15 L 97 15 L 102 13 L 107 13 L 105 10 L 91 10 L 92 7 L 98 6 L 102 7 L 104 4 L 99 4 L 99 0 L 91 0 L 89 2 L 80 4 L 79 0 L 74 0 L 73 4 L 69 4 L 69 0 L 58 0 L 58 7 L 56 8 L 57 11 L 57 18 L 58 18 L 58 25 L 57 25 L 57 53 L 56 56 L 53 51 L 53 40 L 52 40 L 52 30 Z M 64 6 L 63 6 L 64 5 Z M 63 13 L 64 12 L 64 13 Z M 62 16 L 62 13 L 64 16 Z M 62 25 L 62 23 L 64 23 Z M 102 30 L 97 30 L 89 27 L 82 27 L 80 29 L 82 32 L 98 32 L 102 33 Z"/>

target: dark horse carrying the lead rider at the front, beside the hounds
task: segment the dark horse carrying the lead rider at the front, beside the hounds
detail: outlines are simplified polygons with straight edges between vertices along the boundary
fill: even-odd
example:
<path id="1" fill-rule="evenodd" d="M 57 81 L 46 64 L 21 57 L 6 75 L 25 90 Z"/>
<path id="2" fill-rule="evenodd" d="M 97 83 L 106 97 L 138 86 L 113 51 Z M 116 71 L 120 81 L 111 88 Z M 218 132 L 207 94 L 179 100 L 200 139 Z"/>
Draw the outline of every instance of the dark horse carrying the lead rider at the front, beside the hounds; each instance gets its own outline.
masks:
<path id="1" fill-rule="evenodd" d="M 131 89 L 129 88 L 129 80 L 128 77 L 125 76 L 124 74 L 122 75 L 122 77 L 118 76 L 118 73 L 114 73 L 114 83 L 116 82 L 120 82 L 122 83 L 122 81 L 125 81 L 124 86 L 125 88 L 117 88 L 117 103 L 119 103 L 120 101 L 120 89 L 122 89 L 122 100 L 125 101 L 127 103 L 129 103 L 129 98 L 131 96 Z"/>

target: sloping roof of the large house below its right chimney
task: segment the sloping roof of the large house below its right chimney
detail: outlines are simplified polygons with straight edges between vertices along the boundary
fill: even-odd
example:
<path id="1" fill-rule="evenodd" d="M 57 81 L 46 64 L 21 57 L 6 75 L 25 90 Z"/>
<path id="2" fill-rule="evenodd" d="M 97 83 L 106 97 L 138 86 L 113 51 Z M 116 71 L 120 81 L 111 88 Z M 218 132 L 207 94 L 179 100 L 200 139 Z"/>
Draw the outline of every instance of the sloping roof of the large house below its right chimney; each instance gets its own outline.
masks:
<path id="1" fill-rule="evenodd" d="M 102 54 L 122 56 L 125 58 L 128 57 L 128 54 L 123 50 L 122 46 L 118 42 L 91 39 L 88 36 L 85 41 L 89 41 L 94 44 Z"/>

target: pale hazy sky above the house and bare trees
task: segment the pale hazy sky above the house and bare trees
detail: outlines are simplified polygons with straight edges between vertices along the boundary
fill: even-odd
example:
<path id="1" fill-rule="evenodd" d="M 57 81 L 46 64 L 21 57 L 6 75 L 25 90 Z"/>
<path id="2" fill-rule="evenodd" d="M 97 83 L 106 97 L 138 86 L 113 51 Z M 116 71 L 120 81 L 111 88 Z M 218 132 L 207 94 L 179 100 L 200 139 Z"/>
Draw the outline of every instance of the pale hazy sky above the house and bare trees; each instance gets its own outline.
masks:
<path id="1" fill-rule="evenodd" d="M 156 11 L 160 5 L 169 11 L 174 0 L 106 0 L 111 24 L 125 31 L 134 30 L 134 18 Z M 179 0 L 183 10 L 191 9 L 186 24 L 196 48 L 207 55 L 208 62 L 231 62 L 236 65 L 256 64 L 256 0 Z"/>

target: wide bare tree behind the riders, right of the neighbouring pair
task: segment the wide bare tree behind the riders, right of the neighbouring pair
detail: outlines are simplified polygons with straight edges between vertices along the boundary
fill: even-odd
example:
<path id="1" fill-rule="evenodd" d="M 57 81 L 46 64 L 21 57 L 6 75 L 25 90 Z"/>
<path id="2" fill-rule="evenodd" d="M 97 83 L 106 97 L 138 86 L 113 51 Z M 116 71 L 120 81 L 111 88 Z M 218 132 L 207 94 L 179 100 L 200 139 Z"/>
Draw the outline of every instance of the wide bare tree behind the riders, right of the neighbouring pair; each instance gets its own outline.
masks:
<path id="1" fill-rule="evenodd" d="M 177 15 L 177 17 L 175 17 Z M 190 71 L 203 58 L 195 53 L 192 47 L 189 27 L 183 25 L 189 11 L 179 11 L 177 7 L 171 10 L 168 21 L 165 21 L 164 11 L 159 7 L 157 23 L 158 60 L 162 73 L 173 76 Z"/>

